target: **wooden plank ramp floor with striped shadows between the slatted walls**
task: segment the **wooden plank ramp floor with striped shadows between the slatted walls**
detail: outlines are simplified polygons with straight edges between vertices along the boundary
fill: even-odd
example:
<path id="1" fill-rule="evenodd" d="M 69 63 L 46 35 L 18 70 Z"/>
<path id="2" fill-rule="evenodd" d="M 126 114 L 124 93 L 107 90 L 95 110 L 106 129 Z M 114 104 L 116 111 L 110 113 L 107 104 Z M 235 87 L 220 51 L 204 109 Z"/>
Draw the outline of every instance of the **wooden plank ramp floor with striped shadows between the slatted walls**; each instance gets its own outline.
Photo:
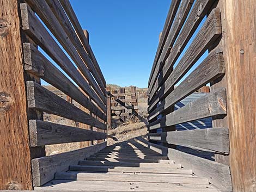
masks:
<path id="1" fill-rule="evenodd" d="M 106 147 L 35 190 L 217 192 L 207 178 L 135 143 Z"/>

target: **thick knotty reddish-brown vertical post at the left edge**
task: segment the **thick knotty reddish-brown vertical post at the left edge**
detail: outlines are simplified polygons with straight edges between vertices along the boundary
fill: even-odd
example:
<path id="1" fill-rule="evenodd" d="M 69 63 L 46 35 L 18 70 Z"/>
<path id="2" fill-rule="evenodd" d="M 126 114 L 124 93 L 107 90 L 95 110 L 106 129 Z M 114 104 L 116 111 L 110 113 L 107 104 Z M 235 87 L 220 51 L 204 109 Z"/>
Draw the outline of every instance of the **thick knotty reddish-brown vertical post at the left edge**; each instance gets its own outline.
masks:
<path id="1" fill-rule="evenodd" d="M 32 190 L 19 4 L 0 2 L 7 34 L 0 38 L 0 190 Z M 2 29 L 1 29 L 2 30 Z"/>

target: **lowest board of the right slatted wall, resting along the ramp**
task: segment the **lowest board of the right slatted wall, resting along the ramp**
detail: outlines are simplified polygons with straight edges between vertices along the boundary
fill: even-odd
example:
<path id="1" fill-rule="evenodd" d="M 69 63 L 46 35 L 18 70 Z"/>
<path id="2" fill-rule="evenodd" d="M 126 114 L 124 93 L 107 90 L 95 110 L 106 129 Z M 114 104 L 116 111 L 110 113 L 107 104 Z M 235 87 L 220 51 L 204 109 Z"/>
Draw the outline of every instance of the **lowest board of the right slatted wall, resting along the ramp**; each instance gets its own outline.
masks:
<path id="1" fill-rule="evenodd" d="M 174 162 L 181 163 L 184 168 L 192 169 L 196 175 L 208 178 L 210 183 L 215 185 L 215 187 L 221 191 L 232 191 L 231 176 L 228 165 L 156 144 L 149 144 L 149 147 L 154 151 L 168 156 L 168 158 L 173 159 Z"/>

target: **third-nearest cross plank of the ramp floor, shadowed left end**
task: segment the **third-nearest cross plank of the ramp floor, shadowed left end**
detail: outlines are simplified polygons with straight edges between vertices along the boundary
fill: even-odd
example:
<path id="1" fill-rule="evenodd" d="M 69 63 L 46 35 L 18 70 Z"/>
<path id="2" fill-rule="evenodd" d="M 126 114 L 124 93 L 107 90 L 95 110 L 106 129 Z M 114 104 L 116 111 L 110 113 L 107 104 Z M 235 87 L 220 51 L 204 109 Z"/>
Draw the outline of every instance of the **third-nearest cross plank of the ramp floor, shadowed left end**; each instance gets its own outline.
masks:
<path id="1" fill-rule="evenodd" d="M 175 165 L 175 164 L 172 164 Z M 95 172 L 138 172 L 154 174 L 192 174 L 192 170 L 175 168 L 135 168 L 127 166 L 93 166 L 93 165 L 71 165 L 70 171 L 95 171 Z"/>

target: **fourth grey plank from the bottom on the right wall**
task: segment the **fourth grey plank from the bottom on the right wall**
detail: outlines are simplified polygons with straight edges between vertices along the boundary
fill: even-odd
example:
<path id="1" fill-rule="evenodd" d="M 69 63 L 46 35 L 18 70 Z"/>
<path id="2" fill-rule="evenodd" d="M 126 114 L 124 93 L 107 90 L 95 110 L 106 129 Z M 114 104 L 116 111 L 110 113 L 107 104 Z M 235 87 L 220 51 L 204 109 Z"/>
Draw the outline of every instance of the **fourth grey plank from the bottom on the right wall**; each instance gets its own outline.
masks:
<path id="1" fill-rule="evenodd" d="M 164 100 L 161 101 L 159 107 L 149 114 L 149 120 L 155 116 L 167 112 L 173 104 L 181 101 L 201 86 L 211 82 L 212 80 L 222 76 L 225 73 L 225 64 L 222 54 L 209 55 L 204 61 L 188 75 L 184 81 L 180 83 Z M 150 109 L 153 107 L 151 106 Z M 167 112 L 168 113 L 168 112 Z"/>

